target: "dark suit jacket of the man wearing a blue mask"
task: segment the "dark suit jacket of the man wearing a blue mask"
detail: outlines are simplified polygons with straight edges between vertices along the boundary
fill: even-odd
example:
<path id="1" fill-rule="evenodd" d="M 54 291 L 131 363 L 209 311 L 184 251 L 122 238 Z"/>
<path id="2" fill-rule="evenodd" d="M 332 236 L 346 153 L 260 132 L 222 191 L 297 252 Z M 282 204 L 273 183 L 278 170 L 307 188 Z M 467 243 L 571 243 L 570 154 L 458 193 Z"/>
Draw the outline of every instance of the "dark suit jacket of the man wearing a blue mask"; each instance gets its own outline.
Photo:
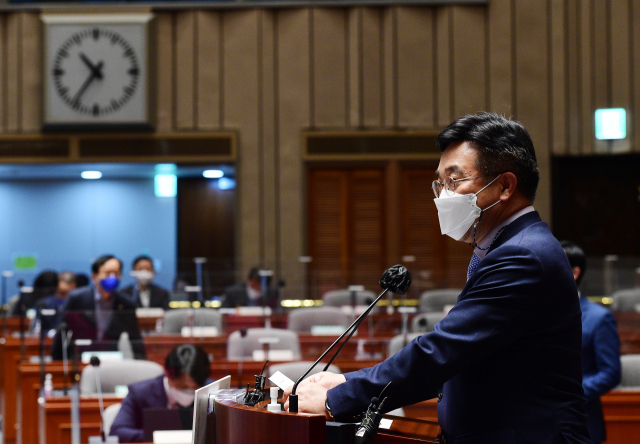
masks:
<path id="1" fill-rule="evenodd" d="M 117 342 L 122 332 L 129 334 L 131 346 L 136 359 L 145 359 L 144 344 L 138 327 L 135 305 L 126 296 L 114 292 L 113 313 L 109 326 L 104 333 L 104 340 L 97 341 L 95 287 L 83 287 L 69 293 L 63 307 L 62 319 L 67 328 L 73 331 L 72 341 L 91 339 L 91 350 L 117 350 Z M 83 349 L 83 351 L 87 348 Z M 69 347 L 72 357 L 73 347 Z M 62 359 L 62 338 L 60 331 L 56 333 L 51 345 L 51 357 Z"/>

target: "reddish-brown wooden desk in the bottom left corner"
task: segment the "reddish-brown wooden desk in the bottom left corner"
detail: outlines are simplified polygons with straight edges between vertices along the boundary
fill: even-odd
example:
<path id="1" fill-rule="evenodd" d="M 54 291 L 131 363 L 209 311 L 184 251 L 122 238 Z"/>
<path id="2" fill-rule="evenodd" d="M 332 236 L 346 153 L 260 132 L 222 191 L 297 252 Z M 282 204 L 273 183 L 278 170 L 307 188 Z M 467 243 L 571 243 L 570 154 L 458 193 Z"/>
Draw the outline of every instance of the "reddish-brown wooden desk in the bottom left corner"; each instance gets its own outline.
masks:
<path id="1" fill-rule="evenodd" d="M 122 399 L 104 397 L 104 408 Z M 95 396 L 80 397 L 80 442 L 100 434 L 100 404 Z M 38 404 L 38 443 L 68 444 L 71 442 L 71 400 L 68 396 L 41 400 Z M 29 444 L 35 443 L 31 441 Z"/>

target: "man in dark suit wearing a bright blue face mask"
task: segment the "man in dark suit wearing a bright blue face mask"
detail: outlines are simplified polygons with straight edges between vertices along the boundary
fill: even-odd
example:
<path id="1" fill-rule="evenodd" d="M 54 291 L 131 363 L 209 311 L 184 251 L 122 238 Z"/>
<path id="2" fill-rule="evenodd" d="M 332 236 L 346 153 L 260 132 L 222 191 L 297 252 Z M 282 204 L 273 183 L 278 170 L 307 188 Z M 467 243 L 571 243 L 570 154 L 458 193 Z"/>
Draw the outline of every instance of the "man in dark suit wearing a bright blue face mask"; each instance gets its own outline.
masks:
<path id="1" fill-rule="evenodd" d="M 138 327 L 135 305 L 116 288 L 120 283 L 122 263 L 112 255 L 101 256 L 91 267 L 93 286 L 83 287 L 69 293 L 63 306 L 61 325 L 53 338 L 51 356 L 62 359 L 63 341 L 61 330 L 73 332 L 71 342 L 90 339 L 90 346 L 79 351 L 117 350 L 118 339 L 123 332 L 129 340 L 136 359 L 144 359 L 144 344 Z M 69 344 L 69 357 L 74 348 Z"/>

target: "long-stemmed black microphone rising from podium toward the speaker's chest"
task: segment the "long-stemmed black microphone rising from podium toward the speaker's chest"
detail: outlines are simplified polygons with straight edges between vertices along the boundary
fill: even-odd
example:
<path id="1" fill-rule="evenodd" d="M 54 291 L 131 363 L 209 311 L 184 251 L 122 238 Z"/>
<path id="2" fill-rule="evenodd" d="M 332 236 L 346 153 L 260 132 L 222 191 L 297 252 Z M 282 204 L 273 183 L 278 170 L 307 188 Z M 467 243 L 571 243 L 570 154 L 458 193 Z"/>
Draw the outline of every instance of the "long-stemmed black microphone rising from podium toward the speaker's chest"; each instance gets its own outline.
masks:
<path id="1" fill-rule="evenodd" d="M 331 363 L 333 362 L 333 360 L 336 359 L 340 351 L 344 348 L 344 346 L 349 341 L 351 336 L 353 336 L 353 334 L 356 332 L 356 330 L 358 329 L 362 321 L 364 321 L 364 319 L 371 312 L 371 310 L 373 310 L 373 307 L 376 306 L 378 301 L 388 291 L 391 291 L 392 293 L 396 293 L 399 295 L 403 295 L 407 292 L 410 285 L 411 285 L 411 273 L 409 273 L 409 270 L 407 270 L 407 268 L 404 265 L 394 265 L 393 267 L 389 268 L 387 271 L 385 271 L 382 274 L 382 277 L 380 278 L 380 287 L 382 287 L 383 289 L 382 293 L 378 295 L 378 297 L 371 303 L 371 305 L 369 305 L 369 307 L 367 307 L 367 309 L 360 316 L 358 316 L 358 318 L 356 318 L 356 320 L 353 321 L 353 323 L 349 327 L 347 327 L 344 333 L 342 333 L 338 337 L 338 339 L 336 339 L 333 342 L 333 344 L 331 344 L 329 348 L 325 350 L 324 353 L 322 353 L 322 355 L 316 360 L 316 362 L 314 362 L 311 365 L 311 367 L 309 367 L 309 369 L 302 376 L 298 378 L 295 384 L 293 384 L 293 389 L 291 390 L 291 394 L 289 395 L 289 411 L 290 412 L 292 413 L 298 412 L 298 395 L 296 395 L 296 389 L 298 388 L 298 384 L 300 384 L 300 382 L 302 382 L 302 380 L 309 374 L 309 372 L 311 372 L 311 370 L 313 370 L 315 366 L 318 365 L 318 362 L 320 362 L 322 358 L 324 358 L 336 346 L 336 344 L 338 344 L 338 342 L 340 342 L 340 340 L 342 340 L 342 338 L 344 338 L 345 335 L 347 335 L 347 333 L 349 334 L 347 339 L 344 340 L 344 342 L 342 343 L 338 351 L 333 355 L 329 363 L 325 366 L 324 371 L 326 371 L 331 365 Z"/>

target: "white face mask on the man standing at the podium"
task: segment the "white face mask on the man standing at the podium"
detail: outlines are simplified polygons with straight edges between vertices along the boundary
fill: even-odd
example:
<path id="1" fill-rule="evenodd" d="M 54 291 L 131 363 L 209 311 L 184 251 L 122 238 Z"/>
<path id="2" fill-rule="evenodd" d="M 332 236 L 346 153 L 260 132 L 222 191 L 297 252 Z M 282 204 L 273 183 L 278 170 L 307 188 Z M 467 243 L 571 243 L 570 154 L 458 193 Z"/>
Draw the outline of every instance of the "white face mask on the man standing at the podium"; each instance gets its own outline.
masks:
<path id="1" fill-rule="evenodd" d="M 501 174 L 498 177 L 500 176 Z M 453 195 L 450 196 L 445 190 L 442 190 L 440 197 L 433 200 L 438 209 L 440 232 L 454 240 L 460 240 L 462 236 L 469 231 L 473 222 L 480 217 L 483 211 L 500 203 L 500 200 L 498 200 L 484 210 L 477 205 L 478 194 L 495 182 L 498 177 L 475 194 L 458 194 L 454 192 Z"/>

